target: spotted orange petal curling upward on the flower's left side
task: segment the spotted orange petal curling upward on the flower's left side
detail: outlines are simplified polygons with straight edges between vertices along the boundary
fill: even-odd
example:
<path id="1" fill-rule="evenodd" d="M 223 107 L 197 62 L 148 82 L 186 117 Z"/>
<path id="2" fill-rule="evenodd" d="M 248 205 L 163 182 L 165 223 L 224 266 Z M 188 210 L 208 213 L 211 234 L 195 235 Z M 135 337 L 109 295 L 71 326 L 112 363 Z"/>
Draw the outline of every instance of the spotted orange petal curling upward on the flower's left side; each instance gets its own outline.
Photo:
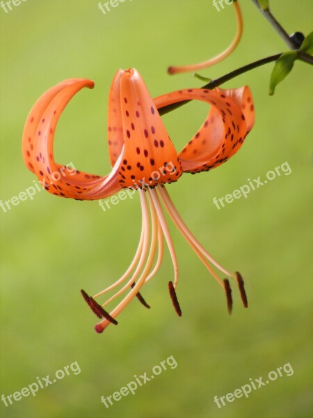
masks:
<path id="1" fill-rule="evenodd" d="M 22 148 L 26 167 L 38 176 L 51 194 L 73 199 L 102 199 L 117 192 L 118 164 L 109 176 L 95 176 L 69 170 L 56 164 L 53 153 L 54 132 L 61 112 L 77 91 L 93 82 L 86 79 L 65 80 L 49 89 L 35 103 L 26 120 Z"/>

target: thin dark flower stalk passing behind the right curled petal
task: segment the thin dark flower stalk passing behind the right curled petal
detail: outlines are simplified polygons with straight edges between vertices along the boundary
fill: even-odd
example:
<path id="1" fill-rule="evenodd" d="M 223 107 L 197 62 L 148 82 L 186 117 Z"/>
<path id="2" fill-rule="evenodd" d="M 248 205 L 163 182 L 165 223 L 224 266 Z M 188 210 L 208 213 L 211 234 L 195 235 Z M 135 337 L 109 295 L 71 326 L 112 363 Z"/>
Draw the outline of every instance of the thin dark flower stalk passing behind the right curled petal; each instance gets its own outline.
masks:
<path id="1" fill-rule="evenodd" d="M 258 61 L 250 63 L 248 65 L 244 65 L 243 67 L 237 68 L 236 70 L 234 70 L 232 72 L 228 72 L 228 74 L 225 74 L 222 77 L 219 77 L 218 79 L 212 80 L 211 82 L 209 82 L 205 86 L 202 86 L 201 88 L 207 88 L 208 90 L 212 90 L 213 88 L 216 88 L 216 87 L 220 86 L 221 84 L 230 81 L 234 77 L 237 77 L 238 75 L 243 74 L 244 72 L 253 70 L 254 68 L 257 68 L 257 67 L 261 67 L 261 65 L 265 65 L 265 64 L 268 64 L 268 63 L 272 63 L 273 61 L 277 61 L 281 55 L 282 54 L 276 54 L 276 55 L 268 56 L 266 58 L 262 58 L 262 59 L 259 59 Z M 191 102 L 191 100 L 184 100 L 182 102 L 168 104 L 168 106 L 159 107 L 159 109 L 158 109 L 159 114 L 160 115 L 165 115 L 168 112 L 170 112 L 172 110 L 175 110 L 178 107 L 181 107 L 188 102 Z"/>

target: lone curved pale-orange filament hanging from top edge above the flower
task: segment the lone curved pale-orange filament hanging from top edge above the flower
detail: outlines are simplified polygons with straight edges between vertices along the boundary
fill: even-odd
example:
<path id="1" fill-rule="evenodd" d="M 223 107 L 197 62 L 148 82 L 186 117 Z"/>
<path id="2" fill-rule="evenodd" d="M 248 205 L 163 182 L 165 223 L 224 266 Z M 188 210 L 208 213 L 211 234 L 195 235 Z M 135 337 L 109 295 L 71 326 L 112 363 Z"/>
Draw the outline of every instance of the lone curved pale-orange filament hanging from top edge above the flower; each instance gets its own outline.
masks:
<path id="1" fill-rule="evenodd" d="M 169 74 L 178 74 L 179 72 L 196 71 L 196 70 L 202 70 L 202 68 L 211 67 L 211 65 L 217 64 L 223 59 L 225 59 L 234 51 L 234 49 L 236 49 L 241 39 L 242 32 L 243 32 L 243 22 L 242 22 L 241 10 L 240 10 L 238 1 L 234 1 L 233 4 L 236 10 L 237 31 L 236 31 L 236 36 L 234 40 L 232 41 L 232 43 L 230 44 L 230 46 L 227 49 L 225 49 L 225 51 L 222 52 L 221 54 L 218 54 L 217 56 L 214 56 L 214 58 L 211 58 L 208 61 L 204 61 L 203 63 L 199 63 L 195 65 L 184 65 L 180 67 L 169 67 L 168 68 Z"/>

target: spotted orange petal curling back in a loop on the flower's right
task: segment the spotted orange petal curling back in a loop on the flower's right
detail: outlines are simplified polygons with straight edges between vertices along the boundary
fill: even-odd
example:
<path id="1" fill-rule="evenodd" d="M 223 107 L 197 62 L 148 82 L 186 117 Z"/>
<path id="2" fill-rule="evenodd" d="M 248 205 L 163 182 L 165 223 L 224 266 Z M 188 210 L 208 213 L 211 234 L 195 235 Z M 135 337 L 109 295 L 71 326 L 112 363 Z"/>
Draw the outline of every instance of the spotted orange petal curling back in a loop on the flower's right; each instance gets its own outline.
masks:
<path id="1" fill-rule="evenodd" d="M 154 102 L 163 107 L 183 100 L 202 100 L 212 105 L 200 130 L 179 153 L 184 172 L 208 171 L 229 160 L 241 148 L 254 123 L 250 89 L 181 90 L 160 96 Z"/>

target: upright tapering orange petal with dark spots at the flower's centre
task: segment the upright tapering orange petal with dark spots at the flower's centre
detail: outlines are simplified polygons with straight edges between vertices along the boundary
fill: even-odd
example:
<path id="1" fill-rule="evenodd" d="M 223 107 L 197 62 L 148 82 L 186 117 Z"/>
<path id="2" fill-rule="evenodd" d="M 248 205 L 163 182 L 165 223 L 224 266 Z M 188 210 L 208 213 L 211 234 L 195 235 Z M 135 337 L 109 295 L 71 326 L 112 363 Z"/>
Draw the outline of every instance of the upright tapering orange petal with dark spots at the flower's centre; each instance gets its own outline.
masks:
<path id="1" fill-rule="evenodd" d="M 126 70 L 120 78 L 124 153 L 119 171 L 122 187 L 172 183 L 182 175 L 175 147 L 141 75 Z"/>

